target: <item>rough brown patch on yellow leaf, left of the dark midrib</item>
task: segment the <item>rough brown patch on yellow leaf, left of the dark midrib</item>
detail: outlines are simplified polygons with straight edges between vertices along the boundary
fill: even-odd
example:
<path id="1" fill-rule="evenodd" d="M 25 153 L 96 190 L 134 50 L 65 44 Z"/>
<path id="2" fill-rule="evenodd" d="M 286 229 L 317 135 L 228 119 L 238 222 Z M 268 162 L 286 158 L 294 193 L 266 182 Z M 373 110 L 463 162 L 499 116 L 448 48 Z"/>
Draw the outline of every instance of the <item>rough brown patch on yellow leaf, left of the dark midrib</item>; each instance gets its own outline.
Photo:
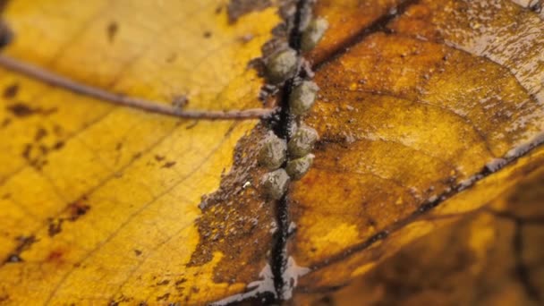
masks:
<path id="1" fill-rule="evenodd" d="M 259 141 L 266 133 L 259 125 L 238 142 L 232 170 L 223 177 L 219 190 L 200 203 L 200 242 L 190 266 L 205 264 L 214 252 L 222 252 L 224 257 L 214 276 L 217 283 L 253 281 L 253 270 L 243 267 L 264 268 L 268 263 L 275 228 L 271 223 L 275 220 L 274 203 L 262 196 L 260 178 L 266 169 L 257 165 Z"/>

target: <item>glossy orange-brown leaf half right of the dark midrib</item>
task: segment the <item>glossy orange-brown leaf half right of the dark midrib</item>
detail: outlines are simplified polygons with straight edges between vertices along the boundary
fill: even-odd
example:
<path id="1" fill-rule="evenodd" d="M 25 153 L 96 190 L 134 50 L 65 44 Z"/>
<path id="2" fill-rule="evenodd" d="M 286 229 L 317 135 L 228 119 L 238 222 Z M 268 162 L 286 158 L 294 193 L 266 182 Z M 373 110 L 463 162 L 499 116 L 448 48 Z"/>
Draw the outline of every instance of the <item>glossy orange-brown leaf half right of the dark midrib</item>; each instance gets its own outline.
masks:
<path id="1" fill-rule="evenodd" d="M 347 5 L 325 4 L 316 11 Z M 486 197 L 474 197 L 466 208 L 459 191 L 489 175 L 494 158 L 514 159 L 511 149 L 543 129 L 536 14 L 498 0 L 402 4 L 380 4 L 387 18 L 378 13 L 359 28 L 363 11 L 346 14 L 336 31 L 357 34 L 317 61 L 321 90 L 304 123 L 320 141 L 310 172 L 289 193 L 297 232 L 288 251 L 314 268 L 299 279 L 301 290 L 342 285 L 357 268 L 449 222 L 439 214 L 418 222 L 430 208 L 485 205 Z M 519 179 L 511 175 L 506 182 Z"/>

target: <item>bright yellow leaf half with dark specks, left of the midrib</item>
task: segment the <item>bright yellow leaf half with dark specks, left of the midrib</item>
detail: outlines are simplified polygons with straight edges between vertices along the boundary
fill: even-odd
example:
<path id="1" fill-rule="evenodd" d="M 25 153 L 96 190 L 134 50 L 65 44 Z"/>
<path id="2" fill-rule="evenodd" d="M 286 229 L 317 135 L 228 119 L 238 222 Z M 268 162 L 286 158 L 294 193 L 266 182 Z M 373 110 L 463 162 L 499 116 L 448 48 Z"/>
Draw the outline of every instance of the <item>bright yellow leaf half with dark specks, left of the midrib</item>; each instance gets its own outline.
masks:
<path id="1" fill-rule="evenodd" d="M 219 0 L 12 1 L 4 52 L 129 96 L 259 107 L 262 84 L 246 65 L 279 22 L 275 10 L 230 24 Z M 0 88 L 3 304 L 202 304 L 259 278 L 268 245 L 254 246 L 261 256 L 234 284 L 214 282 L 221 252 L 186 266 L 200 197 L 217 190 L 256 121 L 149 115 L 7 71 Z"/>

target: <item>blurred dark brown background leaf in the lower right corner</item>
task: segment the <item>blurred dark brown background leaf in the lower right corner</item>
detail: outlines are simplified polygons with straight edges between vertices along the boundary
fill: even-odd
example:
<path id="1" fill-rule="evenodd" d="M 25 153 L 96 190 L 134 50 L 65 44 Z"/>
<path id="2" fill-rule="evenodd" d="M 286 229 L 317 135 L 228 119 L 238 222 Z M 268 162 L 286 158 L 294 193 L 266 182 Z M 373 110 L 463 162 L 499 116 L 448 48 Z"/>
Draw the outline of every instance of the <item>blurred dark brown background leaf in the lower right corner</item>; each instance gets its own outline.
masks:
<path id="1" fill-rule="evenodd" d="M 489 208 L 413 243 L 336 293 L 301 294 L 297 302 L 540 305 L 544 197 L 538 195 L 544 192 L 543 186 L 540 169 Z M 531 211 L 531 217 L 512 217 L 522 211 Z"/>

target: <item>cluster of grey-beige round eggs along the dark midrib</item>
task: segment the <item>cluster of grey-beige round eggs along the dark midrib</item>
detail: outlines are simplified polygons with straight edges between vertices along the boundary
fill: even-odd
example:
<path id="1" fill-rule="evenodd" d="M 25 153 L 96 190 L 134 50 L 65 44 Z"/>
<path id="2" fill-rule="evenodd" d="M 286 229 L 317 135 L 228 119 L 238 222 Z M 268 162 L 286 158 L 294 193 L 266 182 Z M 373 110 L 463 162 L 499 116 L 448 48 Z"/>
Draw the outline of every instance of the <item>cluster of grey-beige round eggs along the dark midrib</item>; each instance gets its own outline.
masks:
<path id="1" fill-rule="evenodd" d="M 301 31 L 301 49 L 310 51 L 315 47 L 327 30 L 327 21 L 312 19 L 303 22 Z M 319 134 L 302 122 L 302 116 L 307 115 L 313 106 L 319 87 L 311 81 L 306 73 L 299 76 L 301 63 L 298 53 L 291 47 L 283 47 L 265 60 L 265 76 L 269 84 L 283 84 L 289 86 L 288 113 L 289 123 L 293 128 L 290 135 L 284 140 L 274 132 L 269 132 L 261 141 L 259 150 L 259 165 L 266 167 L 269 172 L 261 179 L 261 186 L 267 197 L 280 200 L 288 189 L 291 181 L 300 180 L 310 170 L 314 155 L 311 151 Z M 303 74 L 303 73 L 302 73 Z M 291 80 L 291 81 L 287 81 Z M 287 82 L 285 82 L 287 81 Z"/>

